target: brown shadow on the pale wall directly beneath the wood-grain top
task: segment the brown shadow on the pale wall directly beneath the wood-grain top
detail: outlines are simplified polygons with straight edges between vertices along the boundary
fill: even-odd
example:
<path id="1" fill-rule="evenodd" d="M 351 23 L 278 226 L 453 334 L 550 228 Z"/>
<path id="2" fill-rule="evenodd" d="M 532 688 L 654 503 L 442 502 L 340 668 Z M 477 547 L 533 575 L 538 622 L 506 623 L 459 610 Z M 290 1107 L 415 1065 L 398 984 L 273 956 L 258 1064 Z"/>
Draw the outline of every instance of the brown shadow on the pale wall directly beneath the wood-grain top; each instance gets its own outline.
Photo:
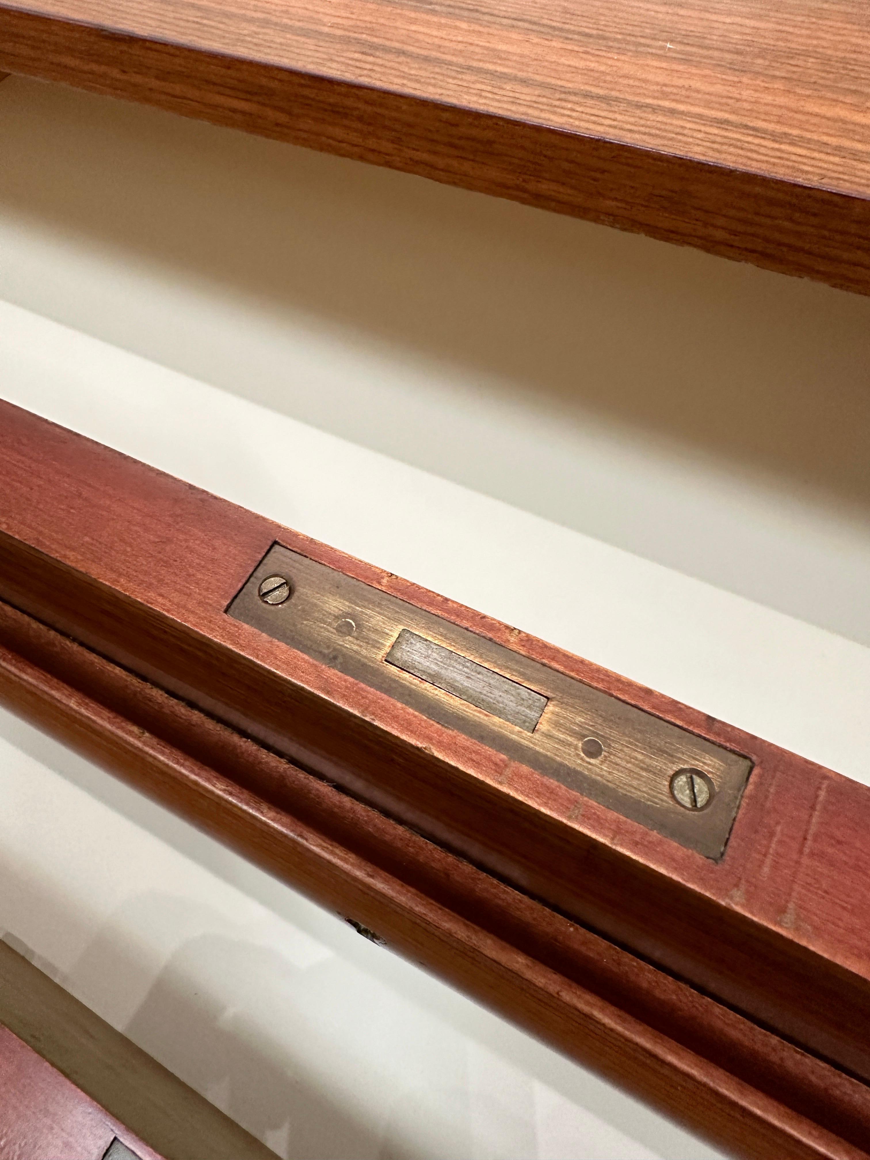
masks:
<path id="1" fill-rule="evenodd" d="M 60 87 L 5 99 L 10 211 L 870 513 L 870 299 Z M 233 389 L 288 409 L 285 379 Z"/>

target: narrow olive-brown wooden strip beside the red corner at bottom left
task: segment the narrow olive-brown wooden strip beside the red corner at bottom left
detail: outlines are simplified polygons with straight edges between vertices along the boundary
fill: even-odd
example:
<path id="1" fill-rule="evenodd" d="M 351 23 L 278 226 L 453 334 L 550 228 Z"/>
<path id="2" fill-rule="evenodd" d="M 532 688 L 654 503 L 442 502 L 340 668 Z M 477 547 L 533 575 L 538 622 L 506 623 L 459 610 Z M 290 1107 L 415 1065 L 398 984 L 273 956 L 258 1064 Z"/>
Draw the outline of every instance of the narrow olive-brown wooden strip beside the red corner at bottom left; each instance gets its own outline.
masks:
<path id="1" fill-rule="evenodd" d="M 0 942 L 0 1024 L 167 1160 L 275 1160 L 264 1144 L 68 994 L 6 940 Z M 58 1160 L 61 1154 L 78 1160 L 73 1153 L 55 1154 Z M 0 1155 L 7 1157 L 2 1147 Z M 49 1160 L 49 1155 L 34 1152 L 26 1160 Z"/>

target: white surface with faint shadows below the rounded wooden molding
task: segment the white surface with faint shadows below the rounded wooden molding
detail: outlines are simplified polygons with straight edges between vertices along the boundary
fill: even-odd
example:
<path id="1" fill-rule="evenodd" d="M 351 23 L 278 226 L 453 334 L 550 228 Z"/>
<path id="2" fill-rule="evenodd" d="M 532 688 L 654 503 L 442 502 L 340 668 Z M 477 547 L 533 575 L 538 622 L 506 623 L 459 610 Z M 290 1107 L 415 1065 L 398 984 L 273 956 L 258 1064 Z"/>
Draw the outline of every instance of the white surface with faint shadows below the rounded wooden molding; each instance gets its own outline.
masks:
<path id="1" fill-rule="evenodd" d="M 96 865 L 84 848 L 73 860 L 72 886 L 0 849 L 0 928 L 280 1154 L 447 1160 L 492 1145 L 506 1160 L 538 1151 L 717 1157 L 57 741 L 0 716 L 3 737 L 75 786 L 82 810 L 95 798 L 113 811 L 103 821 L 90 803 L 70 820 L 64 841 L 99 846 Z M 114 815 L 145 832 L 132 849 L 126 831 L 114 836 Z M 61 831 L 65 817 L 56 819 Z M 186 879 L 183 864 L 150 834 L 216 876 L 211 902 L 196 873 Z M 128 863 L 144 861 L 153 876 L 132 883 Z M 103 872 L 117 873 L 123 901 L 95 921 L 88 882 Z M 155 886 L 168 872 L 179 876 L 175 892 Z M 248 899 L 263 909 L 252 913 Z M 553 1121 L 546 1134 L 560 1147 L 538 1147 L 542 1116 Z"/>

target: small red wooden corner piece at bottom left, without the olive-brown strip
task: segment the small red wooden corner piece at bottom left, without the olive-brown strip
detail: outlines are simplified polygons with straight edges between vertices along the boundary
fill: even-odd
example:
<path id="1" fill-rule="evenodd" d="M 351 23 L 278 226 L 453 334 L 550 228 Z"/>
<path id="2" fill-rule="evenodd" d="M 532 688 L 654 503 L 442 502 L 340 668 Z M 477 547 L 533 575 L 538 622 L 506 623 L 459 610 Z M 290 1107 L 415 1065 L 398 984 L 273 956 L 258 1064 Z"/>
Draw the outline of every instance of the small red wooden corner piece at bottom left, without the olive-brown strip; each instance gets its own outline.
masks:
<path id="1" fill-rule="evenodd" d="M 3 1160 L 102 1160 L 117 1137 L 140 1158 L 157 1152 L 0 1024 Z"/>

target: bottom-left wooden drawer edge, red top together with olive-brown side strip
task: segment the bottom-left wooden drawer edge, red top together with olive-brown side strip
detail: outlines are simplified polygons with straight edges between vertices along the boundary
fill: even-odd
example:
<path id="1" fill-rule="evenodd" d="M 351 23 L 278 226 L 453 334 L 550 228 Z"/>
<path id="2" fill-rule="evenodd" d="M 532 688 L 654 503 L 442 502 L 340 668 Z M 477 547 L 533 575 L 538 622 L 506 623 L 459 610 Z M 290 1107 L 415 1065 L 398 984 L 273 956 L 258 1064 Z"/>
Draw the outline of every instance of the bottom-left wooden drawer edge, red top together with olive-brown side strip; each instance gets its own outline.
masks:
<path id="1" fill-rule="evenodd" d="M 274 1160 L 274 1153 L 0 941 L 6 1157 Z M 32 1052 L 32 1053 L 31 1053 Z M 123 1130 L 121 1129 L 123 1125 Z M 107 1147 L 108 1145 L 108 1147 Z"/>

